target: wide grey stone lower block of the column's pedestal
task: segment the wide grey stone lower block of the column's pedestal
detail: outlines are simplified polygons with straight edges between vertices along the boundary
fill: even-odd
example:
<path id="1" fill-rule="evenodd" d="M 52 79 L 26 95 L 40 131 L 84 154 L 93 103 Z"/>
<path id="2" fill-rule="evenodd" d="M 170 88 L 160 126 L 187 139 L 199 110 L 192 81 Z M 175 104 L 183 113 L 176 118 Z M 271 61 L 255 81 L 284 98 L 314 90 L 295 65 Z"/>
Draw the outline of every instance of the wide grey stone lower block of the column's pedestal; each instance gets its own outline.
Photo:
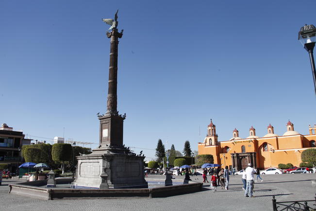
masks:
<path id="1" fill-rule="evenodd" d="M 72 188 L 148 188 L 142 156 L 114 154 L 114 149 L 96 149 L 78 156 L 76 179 Z M 107 175 L 107 177 L 104 177 Z M 107 181 L 104 181 L 107 178 Z"/>

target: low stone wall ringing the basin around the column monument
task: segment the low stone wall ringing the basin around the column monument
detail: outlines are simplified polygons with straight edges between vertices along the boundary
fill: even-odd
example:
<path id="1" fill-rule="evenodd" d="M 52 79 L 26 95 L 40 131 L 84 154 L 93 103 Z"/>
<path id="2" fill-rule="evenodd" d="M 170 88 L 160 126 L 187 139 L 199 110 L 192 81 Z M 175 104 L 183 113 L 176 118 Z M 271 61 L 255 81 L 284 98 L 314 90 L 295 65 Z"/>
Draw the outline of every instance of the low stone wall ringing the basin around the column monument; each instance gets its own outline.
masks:
<path id="1" fill-rule="evenodd" d="M 57 184 L 67 184 L 73 179 L 56 180 Z M 42 180 L 10 184 L 12 194 L 30 196 L 41 199 L 69 199 L 69 198 L 121 198 L 121 197 L 167 197 L 185 193 L 194 193 L 202 190 L 202 183 L 189 183 L 157 188 L 139 189 L 70 189 L 70 188 L 38 188 L 43 186 Z"/>

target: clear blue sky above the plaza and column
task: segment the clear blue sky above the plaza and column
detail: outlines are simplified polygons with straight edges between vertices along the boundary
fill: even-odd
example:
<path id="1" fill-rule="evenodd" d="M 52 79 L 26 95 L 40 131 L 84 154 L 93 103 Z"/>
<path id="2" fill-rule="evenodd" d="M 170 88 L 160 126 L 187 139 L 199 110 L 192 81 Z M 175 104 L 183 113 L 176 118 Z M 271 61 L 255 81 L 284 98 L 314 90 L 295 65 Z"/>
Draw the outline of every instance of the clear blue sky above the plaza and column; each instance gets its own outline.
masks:
<path id="1" fill-rule="evenodd" d="M 182 151 L 189 140 L 197 150 L 211 118 L 219 141 L 235 127 L 247 137 L 251 125 L 264 136 L 269 123 L 282 135 L 288 119 L 307 134 L 316 97 L 297 38 L 305 23 L 316 24 L 315 4 L 1 0 L 0 122 L 48 138 L 65 127 L 66 139 L 98 143 L 109 66 L 101 18 L 119 9 L 125 145 L 155 149 L 160 138 Z"/>

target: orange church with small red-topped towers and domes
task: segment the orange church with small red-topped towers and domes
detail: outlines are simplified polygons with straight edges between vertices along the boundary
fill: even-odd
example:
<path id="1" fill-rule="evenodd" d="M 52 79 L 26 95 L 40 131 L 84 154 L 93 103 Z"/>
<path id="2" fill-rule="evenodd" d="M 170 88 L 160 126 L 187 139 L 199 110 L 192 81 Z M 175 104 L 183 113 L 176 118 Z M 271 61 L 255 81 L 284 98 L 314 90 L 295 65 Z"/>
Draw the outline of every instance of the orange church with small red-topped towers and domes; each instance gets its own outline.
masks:
<path id="1" fill-rule="evenodd" d="M 301 135 L 294 130 L 294 124 L 288 121 L 283 136 L 274 133 L 271 124 L 267 126 L 264 137 L 256 136 L 256 130 L 251 126 L 249 137 L 240 138 L 239 131 L 233 130 L 233 138 L 229 141 L 217 141 L 216 126 L 207 126 L 207 136 L 198 143 L 199 155 L 211 154 L 214 163 L 234 167 L 238 171 L 247 167 L 248 163 L 255 168 L 266 169 L 278 167 L 279 163 L 292 163 L 299 166 L 302 151 L 315 147 L 316 125 L 309 126 L 309 135 Z"/>

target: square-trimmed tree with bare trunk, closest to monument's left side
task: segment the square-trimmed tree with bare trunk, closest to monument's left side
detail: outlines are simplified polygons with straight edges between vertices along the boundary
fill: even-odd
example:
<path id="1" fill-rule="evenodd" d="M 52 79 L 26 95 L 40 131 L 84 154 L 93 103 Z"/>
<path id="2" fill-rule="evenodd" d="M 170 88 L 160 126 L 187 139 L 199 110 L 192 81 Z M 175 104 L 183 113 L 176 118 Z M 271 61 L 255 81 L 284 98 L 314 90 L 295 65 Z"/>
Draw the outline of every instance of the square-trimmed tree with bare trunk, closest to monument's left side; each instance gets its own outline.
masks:
<path id="1" fill-rule="evenodd" d="M 65 171 L 65 163 L 70 162 L 72 158 L 72 146 L 68 143 L 54 143 L 51 149 L 53 161 L 62 164 L 63 174 Z"/>

